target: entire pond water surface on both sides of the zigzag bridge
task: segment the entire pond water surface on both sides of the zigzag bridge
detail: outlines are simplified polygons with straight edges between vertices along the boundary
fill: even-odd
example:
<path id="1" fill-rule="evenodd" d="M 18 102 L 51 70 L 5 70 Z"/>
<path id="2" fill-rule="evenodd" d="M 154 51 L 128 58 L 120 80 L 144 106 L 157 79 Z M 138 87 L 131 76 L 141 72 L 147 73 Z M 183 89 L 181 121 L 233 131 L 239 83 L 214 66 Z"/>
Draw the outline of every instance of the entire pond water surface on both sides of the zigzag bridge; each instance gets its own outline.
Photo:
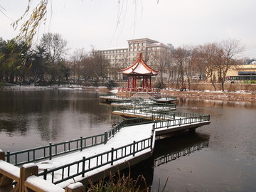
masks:
<path id="1" fill-rule="evenodd" d="M 196 134 L 156 142 L 154 156 L 132 167 L 152 191 L 255 191 L 256 103 L 179 99 L 177 108 L 210 114 Z M 18 151 L 101 134 L 121 117 L 83 90 L 0 91 L 0 149 Z"/>

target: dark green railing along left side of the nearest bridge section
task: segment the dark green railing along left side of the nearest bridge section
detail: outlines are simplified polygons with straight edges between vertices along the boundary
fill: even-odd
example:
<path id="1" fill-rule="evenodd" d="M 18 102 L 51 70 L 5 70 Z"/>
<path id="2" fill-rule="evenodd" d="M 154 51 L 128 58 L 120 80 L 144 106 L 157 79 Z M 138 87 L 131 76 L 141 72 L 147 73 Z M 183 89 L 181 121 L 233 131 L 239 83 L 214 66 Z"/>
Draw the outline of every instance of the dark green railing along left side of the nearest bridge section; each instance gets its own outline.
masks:
<path id="1" fill-rule="evenodd" d="M 148 117 L 150 119 L 150 117 Z M 148 120 L 147 120 L 148 121 Z M 120 129 L 129 125 L 144 124 L 143 118 L 123 119 L 118 124 L 114 125 L 110 131 L 104 134 L 97 134 L 91 137 L 80 137 L 79 139 L 73 139 L 67 142 L 61 142 L 58 144 L 49 144 L 47 146 L 40 146 L 33 149 L 26 149 L 22 151 L 10 152 L 5 154 L 6 161 L 20 166 L 35 161 L 41 161 L 43 159 L 52 159 L 55 156 L 68 154 L 73 151 L 82 151 L 82 149 L 96 146 L 98 144 L 106 144 L 109 139 L 114 137 Z M 148 122 L 146 122 L 148 123 Z"/>

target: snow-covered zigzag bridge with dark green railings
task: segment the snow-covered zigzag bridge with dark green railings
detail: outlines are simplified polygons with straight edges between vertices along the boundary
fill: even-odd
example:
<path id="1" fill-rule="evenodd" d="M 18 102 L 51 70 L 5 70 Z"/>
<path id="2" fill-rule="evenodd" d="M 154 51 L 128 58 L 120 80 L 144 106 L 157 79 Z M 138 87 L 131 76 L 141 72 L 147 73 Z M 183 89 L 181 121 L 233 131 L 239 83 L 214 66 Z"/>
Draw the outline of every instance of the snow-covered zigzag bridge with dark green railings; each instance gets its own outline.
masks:
<path id="1" fill-rule="evenodd" d="M 13 191 L 84 191 L 90 180 L 149 158 L 158 136 L 184 129 L 195 131 L 210 124 L 210 115 L 174 112 L 173 105 L 117 106 L 113 110 L 143 117 L 123 119 L 92 137 L 24 151 L 1 151 L 0 186 L 13 186 L 16 181 Z"/>

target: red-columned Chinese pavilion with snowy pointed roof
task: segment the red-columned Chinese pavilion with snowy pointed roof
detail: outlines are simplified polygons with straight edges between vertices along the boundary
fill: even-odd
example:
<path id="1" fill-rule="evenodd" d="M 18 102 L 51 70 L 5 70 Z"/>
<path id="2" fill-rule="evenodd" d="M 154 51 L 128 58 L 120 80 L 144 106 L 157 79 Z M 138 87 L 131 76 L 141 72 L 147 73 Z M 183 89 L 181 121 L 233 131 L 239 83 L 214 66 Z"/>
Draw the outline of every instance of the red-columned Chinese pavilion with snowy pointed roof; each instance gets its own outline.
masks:
<path id="1" fill-rule="evenodd" d="M 146 65 L 142 59 L 142 53 L 139 53 L 139 58 L 137 61 L 129 66 L 128 68 L 122 70 L 122 74 L 128 76 L 127 91 L 137 92 L 151 92 L 151 76 L 157 75 L 158 71 L 150 68 Z M 137 89 L 137 80 L 142 79 L 142 88 Z"/>

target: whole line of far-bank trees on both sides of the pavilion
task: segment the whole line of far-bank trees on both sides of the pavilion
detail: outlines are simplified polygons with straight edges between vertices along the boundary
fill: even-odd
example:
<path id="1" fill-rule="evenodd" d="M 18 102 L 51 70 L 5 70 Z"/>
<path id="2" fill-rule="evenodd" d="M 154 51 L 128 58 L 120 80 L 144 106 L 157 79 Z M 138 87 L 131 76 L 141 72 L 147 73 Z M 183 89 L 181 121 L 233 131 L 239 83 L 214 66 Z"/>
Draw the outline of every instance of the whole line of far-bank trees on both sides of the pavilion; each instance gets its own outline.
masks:
<path id="1" fill-rule="evenodd" d="M 69 82 L 105 85 L 106 79 L 115 80 L 117 66 L 111 66 L 100 51 L 75 50 L 67 59 L 67 41 L 58 33 L 46 33 L 31 48 L 24 42 L 4 41 L 0 38 L 0 82 L 52 85 Z M 247 63 L 236 57 L 243 47 L 240 41 L 228 39 L 220 43 L 182 46 L 171 51 L 145 54 L 146 62 L 159 70 L 157 85 L 176 83 L 176 87 L 191 87 L 193 78 L 208 80 L 216 90 L 219 82 L 224 90 L 225 77 L 230 68 Z M 132 63 L 127 63 L 132 65 Z M 126 66 L 127 67 L 127 66 Z M 112 77 L 110 77 L 112 74 Z"/>

